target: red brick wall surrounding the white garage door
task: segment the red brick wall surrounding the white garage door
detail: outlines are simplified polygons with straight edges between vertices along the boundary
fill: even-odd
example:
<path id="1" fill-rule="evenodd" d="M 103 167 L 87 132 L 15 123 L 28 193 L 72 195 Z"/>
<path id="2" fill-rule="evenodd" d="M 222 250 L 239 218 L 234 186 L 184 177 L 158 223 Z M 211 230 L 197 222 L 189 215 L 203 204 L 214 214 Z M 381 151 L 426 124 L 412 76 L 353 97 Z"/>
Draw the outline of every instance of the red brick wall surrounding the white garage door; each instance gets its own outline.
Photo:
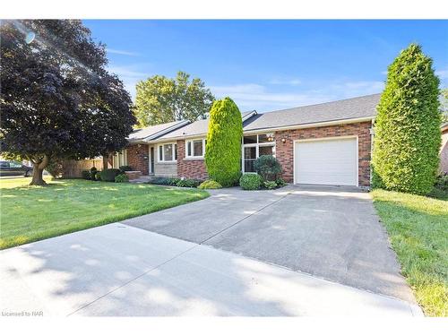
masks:
<path id="1" fill-rule="evenodd" d="M 335 136 L 358 135 L 358 182 L 359 185 L 370 185 L 371 135 L 370 122 L 323 126 L 306 129 L 279 131 L 275 133 L 276 157 L 283 168 L 283 178 L 292 183 L 294 180 L 294 141 L 302 139 L 325 138 Z M 281 142 L 281 139 L 286 142 Z"/>

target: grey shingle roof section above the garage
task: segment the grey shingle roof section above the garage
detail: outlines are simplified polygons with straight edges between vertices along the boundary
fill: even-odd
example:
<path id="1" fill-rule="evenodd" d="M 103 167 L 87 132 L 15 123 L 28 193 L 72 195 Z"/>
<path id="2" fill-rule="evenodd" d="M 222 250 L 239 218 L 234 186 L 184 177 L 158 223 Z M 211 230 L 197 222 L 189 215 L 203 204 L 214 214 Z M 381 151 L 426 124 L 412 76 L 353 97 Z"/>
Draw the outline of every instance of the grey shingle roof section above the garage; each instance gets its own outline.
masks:
<path id="1" fill-rule="evenodd" d="M 244 131 L 373 117 L 381 94 L 266 112 L 248 119 Z"/>

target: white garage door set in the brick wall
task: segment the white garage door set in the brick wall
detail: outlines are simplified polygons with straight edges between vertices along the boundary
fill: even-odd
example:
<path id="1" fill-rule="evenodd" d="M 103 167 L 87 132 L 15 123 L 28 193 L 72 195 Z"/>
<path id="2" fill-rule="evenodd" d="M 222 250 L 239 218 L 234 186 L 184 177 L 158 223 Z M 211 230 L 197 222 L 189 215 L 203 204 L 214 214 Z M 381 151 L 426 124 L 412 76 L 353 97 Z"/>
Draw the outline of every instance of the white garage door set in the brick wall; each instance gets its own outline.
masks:
<path id="1" fill-rule="evenodd" d="M 358 185 L 356 138 L 296 142 L 295 183 Z"/>

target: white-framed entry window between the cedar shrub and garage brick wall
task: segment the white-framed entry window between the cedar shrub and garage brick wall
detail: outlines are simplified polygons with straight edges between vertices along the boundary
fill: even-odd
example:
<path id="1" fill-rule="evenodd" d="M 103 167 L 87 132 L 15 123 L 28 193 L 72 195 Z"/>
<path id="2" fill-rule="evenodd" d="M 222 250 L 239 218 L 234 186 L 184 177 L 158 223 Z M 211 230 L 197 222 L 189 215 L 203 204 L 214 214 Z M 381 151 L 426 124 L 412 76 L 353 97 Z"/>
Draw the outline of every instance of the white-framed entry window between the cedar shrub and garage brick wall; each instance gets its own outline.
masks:
<path id="1" fill-rule="evenodd" d="M 254 161 L 260 155 L 275 156 L 273 134 L 246 135 L 243 137 L 243 173 L 253 173 Z"/>

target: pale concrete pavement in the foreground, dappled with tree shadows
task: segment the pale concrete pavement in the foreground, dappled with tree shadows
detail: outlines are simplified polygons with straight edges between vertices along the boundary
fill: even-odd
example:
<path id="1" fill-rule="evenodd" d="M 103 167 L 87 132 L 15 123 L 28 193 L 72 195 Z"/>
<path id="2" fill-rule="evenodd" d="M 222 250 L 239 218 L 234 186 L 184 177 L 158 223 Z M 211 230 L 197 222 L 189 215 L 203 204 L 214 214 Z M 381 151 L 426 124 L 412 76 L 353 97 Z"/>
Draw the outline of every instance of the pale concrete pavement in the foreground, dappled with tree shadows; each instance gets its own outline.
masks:
<path id="1" fill-rule="evenodd" d="M 120 223 L 4 250 L 0 274 L 7 313 L 421 315 L 399 299 Z"/>

